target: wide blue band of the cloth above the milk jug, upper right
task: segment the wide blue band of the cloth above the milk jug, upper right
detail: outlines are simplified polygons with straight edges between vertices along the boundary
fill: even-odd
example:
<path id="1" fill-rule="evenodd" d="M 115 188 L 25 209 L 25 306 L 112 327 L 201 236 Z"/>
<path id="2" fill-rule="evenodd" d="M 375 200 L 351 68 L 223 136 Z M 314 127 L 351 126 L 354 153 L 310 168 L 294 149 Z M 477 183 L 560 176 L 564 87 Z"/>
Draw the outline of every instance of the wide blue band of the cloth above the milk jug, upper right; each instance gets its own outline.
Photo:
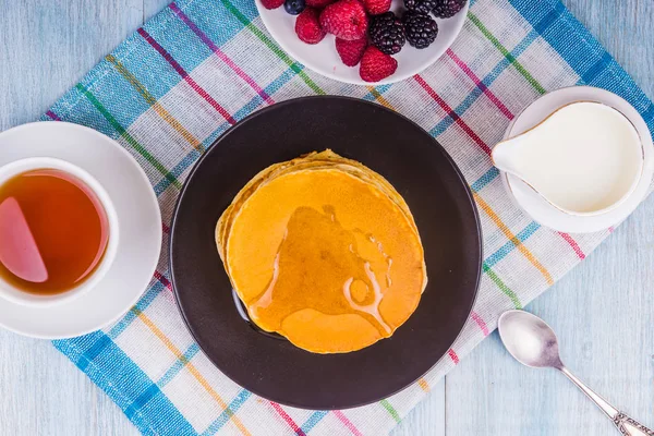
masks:
<path id="1" fill-rule="evenodd" d="M 570 68 L 588 85 L 604 87 L 629 101 L 643 117 L 651 132 L 654 132 L 654 110 L 652 102 L 613 59 L 593 35 L 559 1 L 509 0 L 522 16 L 535 26 L 552 10 L 561 19 L 553 24 L 542 37 L 568 62 Z M 608 74 L 603 74 L 607 71 Z M 592 78 L 584 81 L 583 77 Z"/>

